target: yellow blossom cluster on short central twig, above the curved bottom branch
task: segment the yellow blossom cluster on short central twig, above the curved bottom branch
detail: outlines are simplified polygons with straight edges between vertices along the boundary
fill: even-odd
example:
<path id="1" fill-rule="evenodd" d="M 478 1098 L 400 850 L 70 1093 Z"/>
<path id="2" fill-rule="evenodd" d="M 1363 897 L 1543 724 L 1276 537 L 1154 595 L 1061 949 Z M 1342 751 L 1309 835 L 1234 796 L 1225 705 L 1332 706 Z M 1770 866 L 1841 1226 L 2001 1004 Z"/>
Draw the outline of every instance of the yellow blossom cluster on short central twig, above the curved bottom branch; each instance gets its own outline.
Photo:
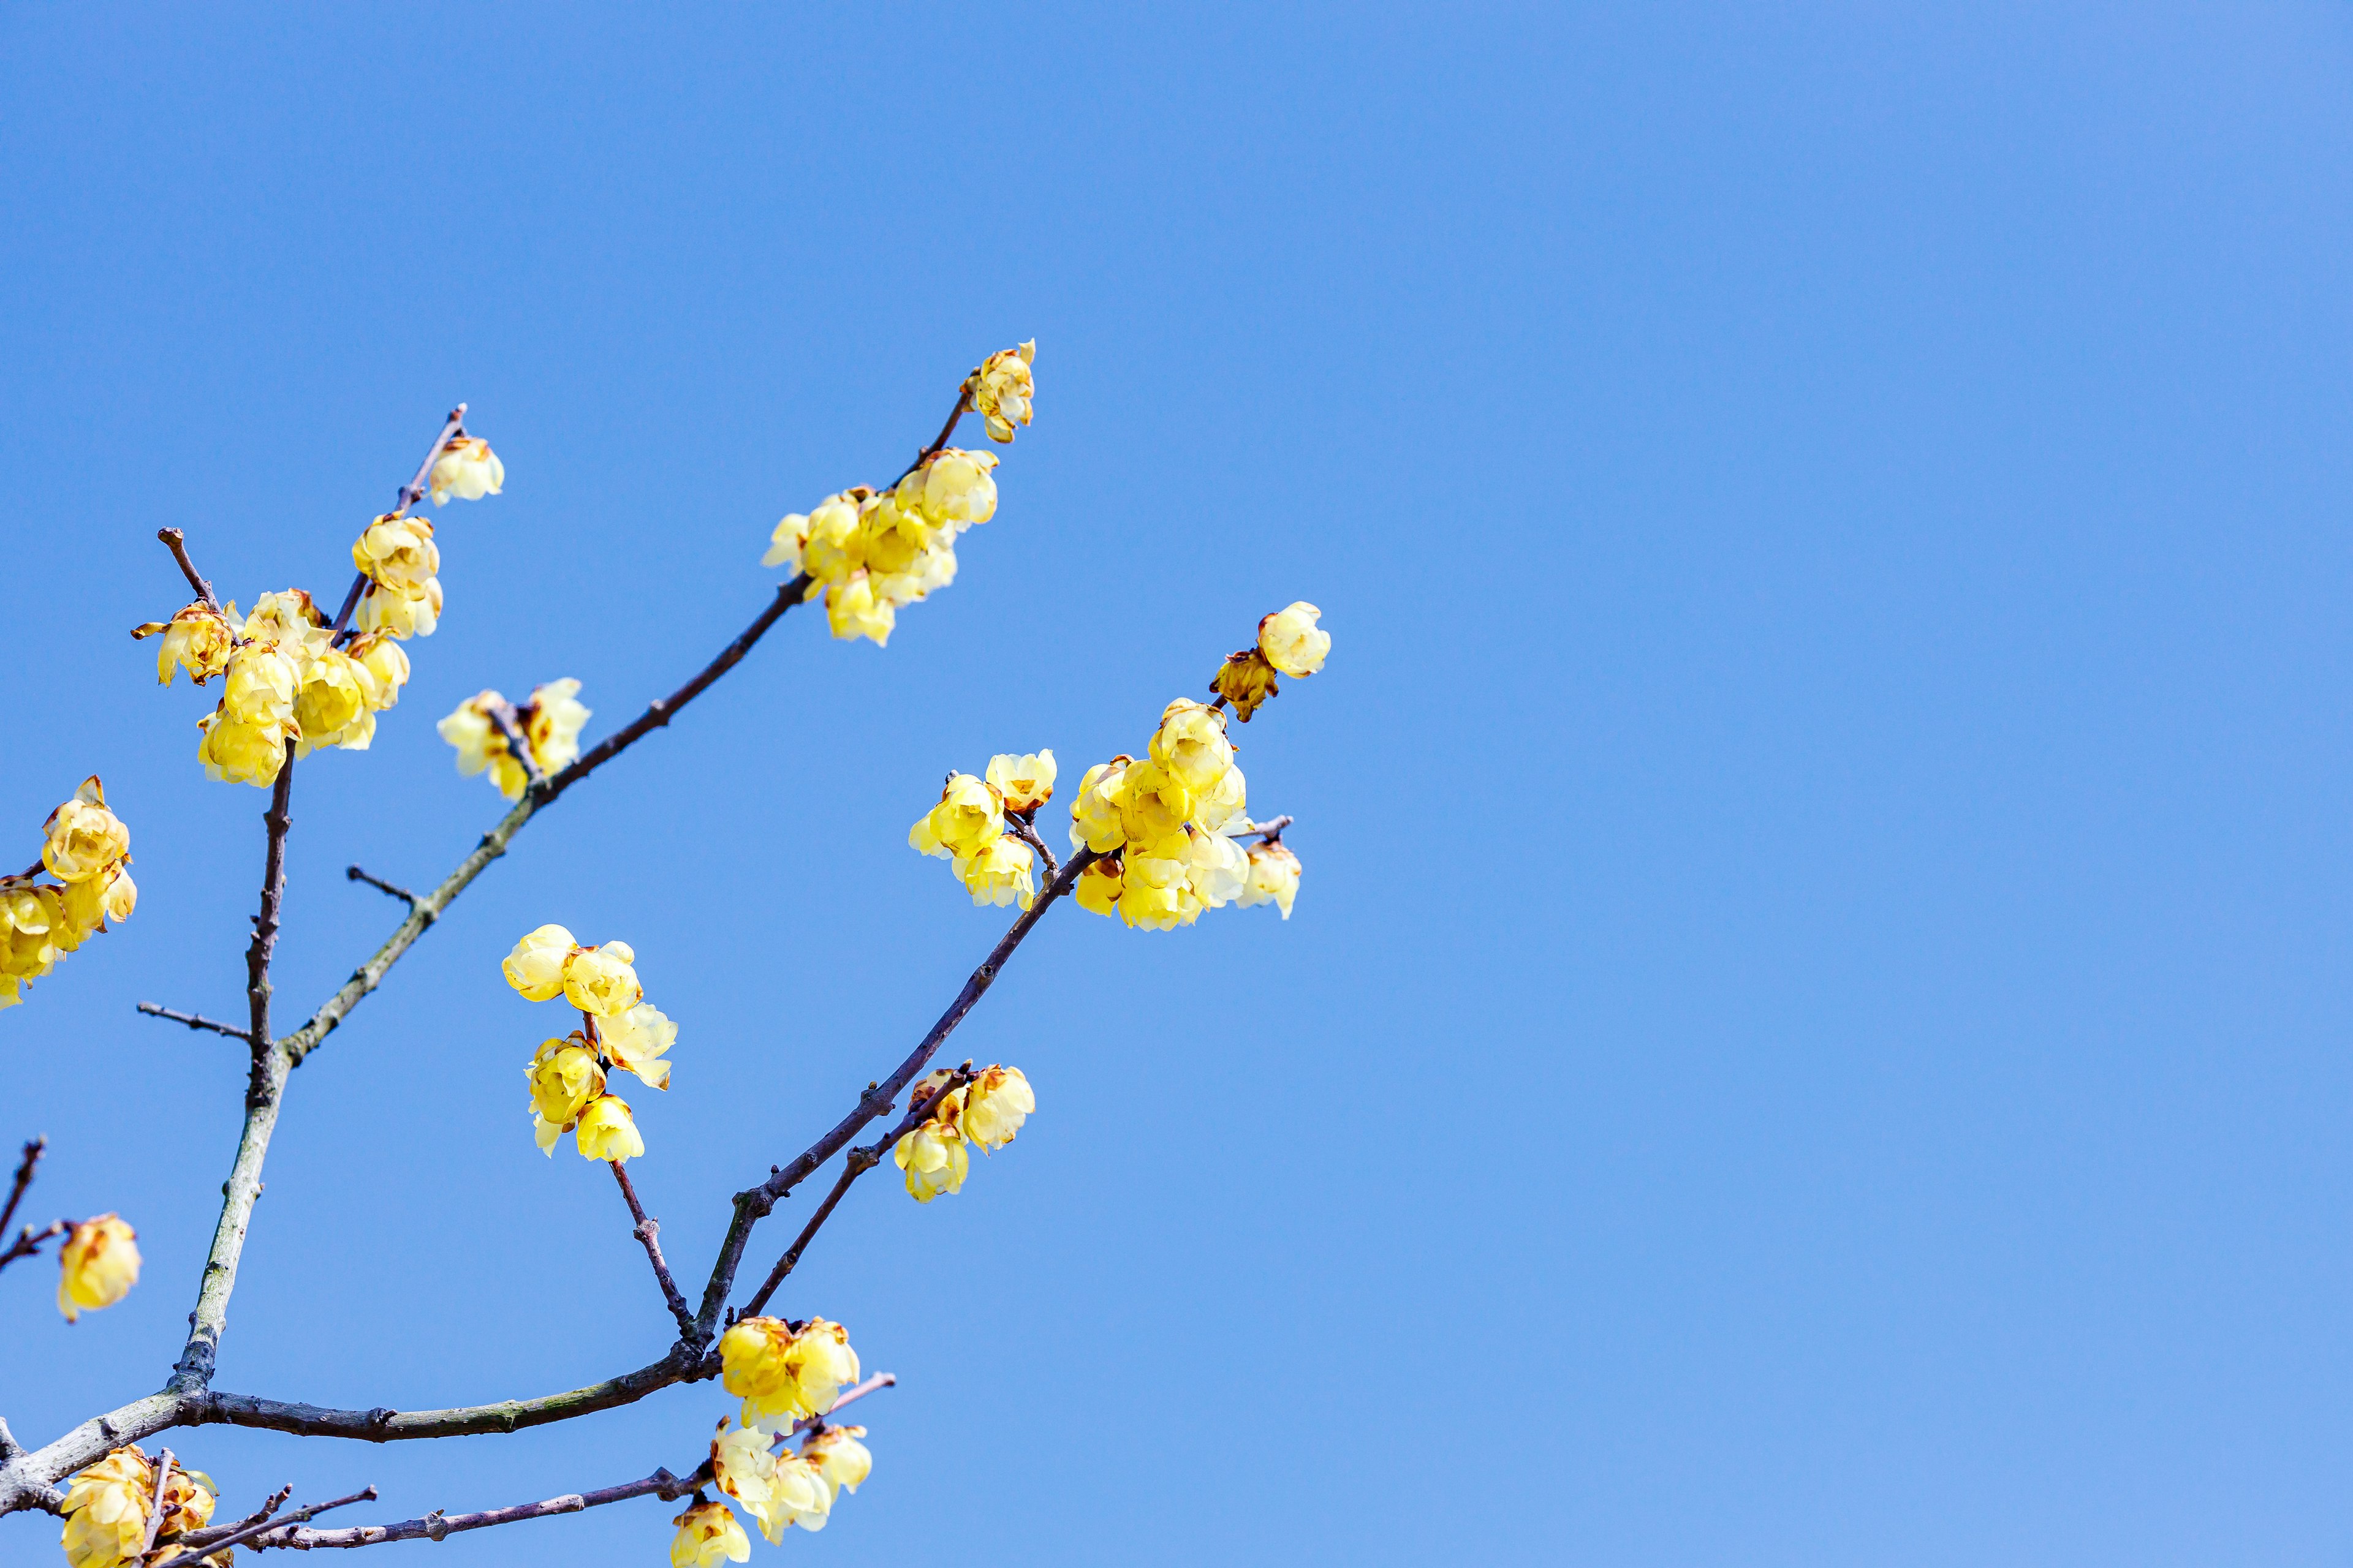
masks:
<path id="1" fill-rule="evenodd" d="M 525 1001 L 562 997 L 581 1013 L 579 1030 L 541 1041 L 525 1067 L 532 1133 L 551 1159 L 565 1133 L 574 1133 L 581 1159 L 621 1164 L 645 1154 L 628 1103 L 605 1091 L 605 1074 L 635 1072 L 647 1088 L 668 1088 L 664 1053 L 678 1041 L 678 1025 L 645 1001 L 635 964 L 628 943 L 581 947 L 562 926 L 527 933 L 501 964 Z"/>

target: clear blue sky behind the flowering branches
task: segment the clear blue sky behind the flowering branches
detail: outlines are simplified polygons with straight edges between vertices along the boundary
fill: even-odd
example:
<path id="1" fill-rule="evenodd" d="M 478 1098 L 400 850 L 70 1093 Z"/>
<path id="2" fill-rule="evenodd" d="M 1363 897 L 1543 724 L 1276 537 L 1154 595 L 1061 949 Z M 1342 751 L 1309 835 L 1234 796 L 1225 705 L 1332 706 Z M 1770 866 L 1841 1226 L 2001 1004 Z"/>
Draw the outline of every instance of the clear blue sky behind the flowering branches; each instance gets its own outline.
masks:
<path id="1" fill-rule="evenodd" d="M 1304 597 L 1332 665 L 1245 748 L 1297 917 L 1021 952 L 958 1056 L 1031 1128 L 864 1185 L 779 1302 L 904 1380 L 791 1554 L 2341 1563 L 2353 24 L 1784 9 L 12 7 L 0 839 L 101 771 L 144 903 L 0 1016 L 0 1138 L 148 1274 L 71 1331 L 0 1276 L 0 1413 L 160 1382 L 235 1138 L 235 1046 L 132 1013 L 235 1011 L 264 806 L 122 635 L 155 529 L 332 595 L 454 400 L 508 465 L 376 748 L 299 776 L 299 1016 L 393 924 L 344 865 L 499 816 L 435 717 L 626 722 L 1035 336 L 960 581 L 887 651 L 788 618 L 296 1074 L 221 1387 L 661 1354 L 612 1182 L 532 1147 L 513 938 L 624 936 L 680 1020 L 638 1171 L 699 1279 L 1005 924 L 904 844 L 939 776 L 1129 750 Z M 174 1446 L 400 1519 L 725 1403 Z"/>

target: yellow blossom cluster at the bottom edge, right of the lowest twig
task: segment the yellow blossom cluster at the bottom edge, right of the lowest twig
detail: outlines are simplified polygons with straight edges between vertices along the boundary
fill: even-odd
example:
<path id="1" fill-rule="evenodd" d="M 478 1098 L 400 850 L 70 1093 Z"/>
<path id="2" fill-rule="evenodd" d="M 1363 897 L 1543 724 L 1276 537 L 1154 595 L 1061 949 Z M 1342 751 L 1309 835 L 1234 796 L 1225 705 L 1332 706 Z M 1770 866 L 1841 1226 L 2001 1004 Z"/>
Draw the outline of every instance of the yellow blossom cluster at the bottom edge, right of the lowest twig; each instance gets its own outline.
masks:
<path id="1" fill-rule="evenodd" d="M 711 1441 L 713 1483 L 758 1521 L 776 1544 L 795 1523 L 824 1530 L 838 1493 L 854 1493 L 873 1474 L 866 1427 L 826 1425 L 824 1413 L 856 1382 L 859 1354 L 849 1331 L 826 1319 L 786 1324 L 748 1316 L 720 1335 L 720 1387 L 744 1401 L 722 1418 Z M 788 1448 L 793 1427 L 809 1422 L 800 1453 Z M 725 1502 L 696 1502 L 675 1521 L 673 1568 L 713 1568 L 751 1556 L 744 1528 Z"/>

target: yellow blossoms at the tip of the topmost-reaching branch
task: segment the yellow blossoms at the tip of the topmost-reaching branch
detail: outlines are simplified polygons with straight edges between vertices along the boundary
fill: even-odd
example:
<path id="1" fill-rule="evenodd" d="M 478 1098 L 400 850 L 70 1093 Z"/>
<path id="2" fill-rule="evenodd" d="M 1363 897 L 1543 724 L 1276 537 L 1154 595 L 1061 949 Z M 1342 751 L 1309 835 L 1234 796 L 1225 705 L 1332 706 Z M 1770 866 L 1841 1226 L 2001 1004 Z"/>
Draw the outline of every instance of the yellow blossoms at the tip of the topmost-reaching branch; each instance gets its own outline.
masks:
<path id="1" fill-rule="evenodd" d="M 1028 362 L 1035 348 L 1024 343 L 991 355 L 965 381 L 967 400 L 1000 442 L 1014 437 L 1009 421 L 1026 425 L 1031 418 Z M 866 637 L 882 646 L 899 625 L 901 604 L 955 581 L 955 536 L 995 517 L 995 465 L 993 451 L 944 447 L 925 454 L 887 491 L 854 484 L 809 512 L 784 517 L 760 564 L 805 571 L 805 602 L 826 597 L 826 623 L 835 637 Z"/>

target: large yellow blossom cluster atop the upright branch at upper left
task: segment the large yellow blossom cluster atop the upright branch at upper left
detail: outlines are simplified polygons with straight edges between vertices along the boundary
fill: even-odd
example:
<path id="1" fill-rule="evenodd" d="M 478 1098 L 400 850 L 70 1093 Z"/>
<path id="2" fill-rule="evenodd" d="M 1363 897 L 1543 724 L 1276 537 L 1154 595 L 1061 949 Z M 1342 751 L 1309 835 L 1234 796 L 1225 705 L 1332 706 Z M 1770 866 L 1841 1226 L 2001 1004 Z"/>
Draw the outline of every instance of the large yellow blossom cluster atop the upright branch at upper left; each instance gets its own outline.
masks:
<path id="1" fill-rule="evenodd" d="M 496 496 L 504 477 L 489 442 L 461 437 L 433 465 L 433 501 Z M 353 630 L 341 637 L 301 588 L 261 595 L 242 623 L 235 604 L 195 602 L 169 621 L 132 628 L 132 637 L 162 637 L 155 679 L 165 686 L 179 670 L 198 686 L 228 677 L 219 705 L 198 722 L 195 755 L 207 778 L 268 788 L 289 745 L 294 757 L 325 745 L 365 752 L 376 715 L 400 703 L 409 682 L 400 642 L 431 637 L 442 611 L 433 524 L 407 510 L 384 512 L 360 529 L 351 562 L 367 583 Z"/>

